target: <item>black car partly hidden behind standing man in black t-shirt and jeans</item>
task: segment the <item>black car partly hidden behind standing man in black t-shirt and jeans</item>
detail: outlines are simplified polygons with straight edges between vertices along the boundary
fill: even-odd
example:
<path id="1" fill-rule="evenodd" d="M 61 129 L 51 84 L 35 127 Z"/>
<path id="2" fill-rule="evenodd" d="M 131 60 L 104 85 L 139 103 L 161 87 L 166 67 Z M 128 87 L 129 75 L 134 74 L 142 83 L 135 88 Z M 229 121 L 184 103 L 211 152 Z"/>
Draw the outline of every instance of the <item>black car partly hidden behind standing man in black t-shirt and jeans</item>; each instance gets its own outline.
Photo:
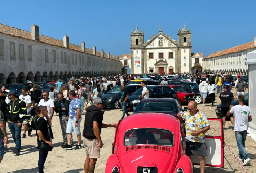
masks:
<path id="1" fill-rule="evenodd" d="M 125 88 L 128 90 L 128 95 L 131 96 L 137 89 L 141 88 L 139 85 L 126 85 Z M 102 95 L 102 101 L 105 108 L 120 108 L 119 100 L 121 98 L 122 87 L 116 86 L 106 94 Z"/>

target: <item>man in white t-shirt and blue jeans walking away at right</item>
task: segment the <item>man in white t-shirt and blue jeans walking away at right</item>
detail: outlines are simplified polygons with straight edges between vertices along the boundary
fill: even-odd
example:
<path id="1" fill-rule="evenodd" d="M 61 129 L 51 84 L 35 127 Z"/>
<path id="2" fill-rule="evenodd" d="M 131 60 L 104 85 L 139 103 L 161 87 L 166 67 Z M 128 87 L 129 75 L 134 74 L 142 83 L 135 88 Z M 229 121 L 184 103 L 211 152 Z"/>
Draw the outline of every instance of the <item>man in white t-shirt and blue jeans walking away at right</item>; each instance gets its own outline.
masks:
<path id="1" fill-rule="evenodd" d="M 244 149 L 245 147 L 245 139 L 247 136 L 247 129 L 249 125 L 249 121 L 252 121 L 252 113 L 250 111 L 250 107 L 243 104 L 244 96 L 238 96 L 238 105 L 231 105 L 230 110 L 227 113 L 227 116 L 234 114 L 235 118 L 235 139 L 237 140 L 237 147 L 239 150 L 239 160 L 243 161 L 243 166 L 246 166 L 251 160 L 248 157 L 247 151 Z"/>

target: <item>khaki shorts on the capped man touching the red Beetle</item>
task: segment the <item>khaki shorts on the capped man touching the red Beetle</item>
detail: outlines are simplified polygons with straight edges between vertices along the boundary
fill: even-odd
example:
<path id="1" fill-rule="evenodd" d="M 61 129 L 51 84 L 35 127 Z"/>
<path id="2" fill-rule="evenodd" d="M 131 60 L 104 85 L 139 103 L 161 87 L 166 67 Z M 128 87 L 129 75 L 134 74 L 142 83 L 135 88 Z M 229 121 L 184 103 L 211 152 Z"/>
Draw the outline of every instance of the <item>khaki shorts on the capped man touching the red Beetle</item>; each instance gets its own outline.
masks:
<path id="1" fill-rule="evenodd" d="M 97 139 L 87 139 L 83 136 L 85 154 L 90 158 L 100 158 L 100 147 Z"/>

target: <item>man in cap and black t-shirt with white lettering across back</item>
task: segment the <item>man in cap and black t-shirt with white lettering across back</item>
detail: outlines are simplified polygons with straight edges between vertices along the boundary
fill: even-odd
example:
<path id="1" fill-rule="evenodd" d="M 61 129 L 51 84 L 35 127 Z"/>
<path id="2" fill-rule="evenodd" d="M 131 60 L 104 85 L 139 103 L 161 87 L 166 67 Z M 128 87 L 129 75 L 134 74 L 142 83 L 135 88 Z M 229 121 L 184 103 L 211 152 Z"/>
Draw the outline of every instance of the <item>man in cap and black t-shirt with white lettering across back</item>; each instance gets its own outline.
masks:
<path id="1" fill-rule="evenodd" d="M 231 102 L 234 100 L 233 93 L 229 92 L 229 86 L 224 85 L 224 92 L 220 93 L 220 99 L 221 99 L 221 112 L 222 112 L 222 121 L 223 121 L 223 130 L 226 130 L 225 124 L 226 124 L 226 116 L 227 112 L 229 111 L 229 107 L 231 105 Z M 232 123 L 232 130 L 234 130 L 234 117 L 233 115 L 230 116 L 230 120 Z"/>

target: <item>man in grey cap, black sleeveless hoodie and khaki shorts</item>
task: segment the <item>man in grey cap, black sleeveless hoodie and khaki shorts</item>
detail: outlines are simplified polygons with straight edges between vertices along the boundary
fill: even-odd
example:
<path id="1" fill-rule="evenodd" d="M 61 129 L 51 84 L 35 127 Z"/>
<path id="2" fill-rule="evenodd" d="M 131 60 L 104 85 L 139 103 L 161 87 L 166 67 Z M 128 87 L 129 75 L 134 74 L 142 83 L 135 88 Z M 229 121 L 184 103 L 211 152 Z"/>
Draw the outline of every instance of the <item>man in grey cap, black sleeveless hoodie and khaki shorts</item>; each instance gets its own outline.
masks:
<path id="1" fill-rule="evenodd" d="M 97 158 L 100 158 L 101 128 L 116 127 L 116 124 L 103 124 L 104 108 L 101 98 L 94 99 L 94 104 L 86 109 L 83 143 L 85 147 L 86 159 L 84 162 L 84 172 L 94 173 Z"/>

